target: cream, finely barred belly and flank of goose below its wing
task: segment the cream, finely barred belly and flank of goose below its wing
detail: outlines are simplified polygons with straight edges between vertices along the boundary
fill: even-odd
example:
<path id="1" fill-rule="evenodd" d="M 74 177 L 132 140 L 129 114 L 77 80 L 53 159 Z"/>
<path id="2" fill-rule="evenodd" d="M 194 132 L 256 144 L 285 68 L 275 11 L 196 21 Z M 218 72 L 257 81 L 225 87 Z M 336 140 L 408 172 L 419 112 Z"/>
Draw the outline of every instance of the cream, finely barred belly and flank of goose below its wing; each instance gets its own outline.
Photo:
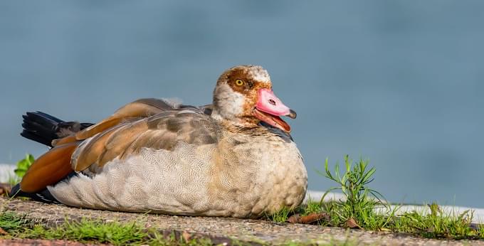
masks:
<path id="1" fill-rule="evenodd" d="M 142 149 L 137 156 L 112 161 L 95 176 L 80 173 L 48 189 L 61 203 L 82 208 L 257 217 L 304 198 L 307 174 L 295 151 L 292 156 L 261 152 L 258 159 L 228 156 L 217 162 L 214 146 L 181 143 L 172 151 Z"/>

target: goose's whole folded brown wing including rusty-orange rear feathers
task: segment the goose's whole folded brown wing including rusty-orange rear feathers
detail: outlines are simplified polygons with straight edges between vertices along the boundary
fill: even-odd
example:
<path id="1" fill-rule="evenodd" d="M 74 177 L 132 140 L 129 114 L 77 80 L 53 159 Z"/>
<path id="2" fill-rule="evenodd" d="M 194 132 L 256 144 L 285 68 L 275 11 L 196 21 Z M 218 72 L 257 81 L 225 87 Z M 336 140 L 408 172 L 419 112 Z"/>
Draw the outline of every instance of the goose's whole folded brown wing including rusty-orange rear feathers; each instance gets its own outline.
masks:
<path id="1" fill-rule="evenodd" d="M 170 149 L 177 141 L 213 143 L 217 126 L 199 107 L 181 107 L 164 100 L 137 100 L 100 123 L 53 143 L 54 147 L 28 169 L 21 190 L 40 191 L 73 170 L 103 166 L 143 147 Z"/>

